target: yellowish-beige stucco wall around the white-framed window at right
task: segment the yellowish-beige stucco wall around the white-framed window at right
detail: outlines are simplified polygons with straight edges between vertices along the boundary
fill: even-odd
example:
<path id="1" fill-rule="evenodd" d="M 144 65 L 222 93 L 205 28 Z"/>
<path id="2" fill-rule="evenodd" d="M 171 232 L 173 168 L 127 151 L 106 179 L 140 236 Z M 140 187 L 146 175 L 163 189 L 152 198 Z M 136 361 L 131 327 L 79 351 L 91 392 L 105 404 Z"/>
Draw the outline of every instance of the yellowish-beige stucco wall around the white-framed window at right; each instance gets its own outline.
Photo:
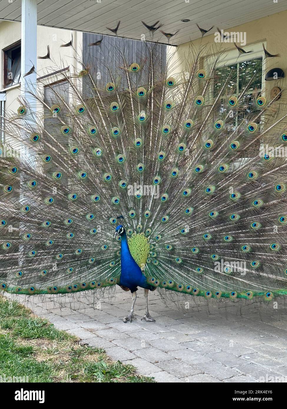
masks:
<path id="1" fill-rule="evenodd" d="M 254 44 L 260 44 L 263 55 L 262 43 L 265 43 L 266 49 L 271 52 L 271 54 L 280 53 L 280 57 L 266 58 L 264 61 L 264 71 L 267 72 L 271 68 L 279 67 L 285 72 L 285 77 L 287 76 L 287 11 L 282 11 L 271 16 L 260 18 L 258 20 L 253 20 L 251 22 L 237 25 L 235 27 L 224 27 L 223 25 L 218 25 L 220 29 L 224 31 L 241 31 L 246 33 L 246 46 L 241 46 L 242 48 L 248 49 L 248 46 Z M 209 27 L 207 27 L 209 28 Z M 200 45 L 206 45 L 207 50 L 214 51 L 220 48 L 226 49 L 227 52 L 235 50 L 235 46 L 232 43 L 215 43 L 215 35 L 210 34 L 209 36 L 204 36 L 201 40 L 197 39 L 192 42 L 196 47 Z M 173 61 L 179 61 L 177 72 L 184 71 L 186 60 L 191 61 L 189 56 L 190 42 L 179 45 L 173 56 Z M 239 43 L 237 45 L 240 46 Z M 172 48 L 170 47 L 172 52 Z M 252 49 L 252 47 L 251 47 Z M 235 50 L 236 51 L 236 50 Z M 236 51 L 237 55 L 239 54 Z M 249 59 L 249 54 L 246 54 Z M 286 78 L 278 81 L 264 81 L 264 87 L 268 92 L 274 86 L 279 86 L 280 88 L 286 87 Z M 282 93 L 282 97 L 287 98 L 287 90 Z"/>

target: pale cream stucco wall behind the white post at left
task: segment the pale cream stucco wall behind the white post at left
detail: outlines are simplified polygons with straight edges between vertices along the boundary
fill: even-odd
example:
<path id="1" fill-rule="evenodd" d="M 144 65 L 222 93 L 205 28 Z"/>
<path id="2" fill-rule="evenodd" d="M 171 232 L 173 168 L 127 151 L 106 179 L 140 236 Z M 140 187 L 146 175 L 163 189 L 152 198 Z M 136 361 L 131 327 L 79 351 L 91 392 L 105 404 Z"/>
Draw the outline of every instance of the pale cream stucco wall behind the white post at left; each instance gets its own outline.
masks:
<path id="1" fill-rule="evenodd" d="M 73 34 L 73 45 L 76 52 L 81 54 L 82 33 L 56 29 L 52 27 L 38 26 L 37 28 L 37 56 L 47 54 L 47 45 L 50 45 L 50 54 L 52 61 L 37 59 L 37 77 L 41 77 L 48 72 L 59 70 L 59 67 L 68 67 L 75 65 L 75 51 L 72 47 L 60 47 L 61 44 L 68 43 Z M 20 85 L 12 88 L 2 88 L 3 86 L 3 52 L 2 50 L 9 45 L 21 39 L 21 23 L 2 21 L 0 24 L 0 67 L 1 67 L 1 84 L 0 91 L 6 91 L 5 109 L 16 111 L 19 103 L 16 100 L 20 95 Z M 51 68 L 52 67 L 52 68 Z M 49 70 L 47 70 L 49 68 Z M 53 70 L 54 68 L 54 70 Z M 56 81 L 56 78 L 50 78 L 50 82 Z"/>

